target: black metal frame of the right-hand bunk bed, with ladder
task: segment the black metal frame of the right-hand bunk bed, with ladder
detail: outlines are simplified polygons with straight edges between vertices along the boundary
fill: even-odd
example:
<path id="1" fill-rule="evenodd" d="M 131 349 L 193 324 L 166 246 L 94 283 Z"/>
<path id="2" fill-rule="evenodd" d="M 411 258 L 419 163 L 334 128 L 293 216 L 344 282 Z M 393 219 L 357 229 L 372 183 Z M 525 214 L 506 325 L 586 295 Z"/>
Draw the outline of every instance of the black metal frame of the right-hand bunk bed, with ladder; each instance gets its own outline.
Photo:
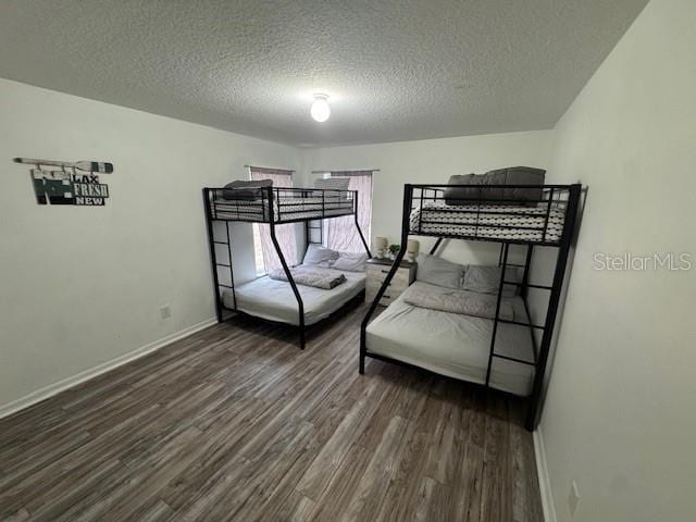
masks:
<path id="1" fill-rule="evenodd" d="M 432 222 L 431 224 L 436 225 L 451 225 L 451 226 L 470 226 L 473 227 L 473 233 L 467 235 L 459 234 L 448 234 L 445 232 L 431 232 L 424 231 L 423 224 L 428 224 L 423 221 L 423 212 L 427 207 L 424 207 L 424 202 L 428 201 L 443 201 L 445 200 L 445 189 L 452 188 L 451 185 L 405 185 L 403 189 L 403 214 L 401 220 L 401 249 L 396 256 L 391 269 L 389 270 L 386 278 L 384 279 L 380 290 L 374 297 L 372 304 L 368 309 L 364 319 L 360 325 L 360 365 L 359 371 L 361 374 L 364 373 L 365 358 L 371 357 L 373 359 L 378 359 L 386 362 L 393 362 L 401 365 L 412 366 L 403 361 L 399 361 L 397 359 L 393 359 L 390 357 L 382 356 L 380 353 L 371 353 L 366 348 L 366 328 L 372 315 L 374 314 L 382 296 L 385 290 L 389 286 L 396 271 L 398 270 L 401 260 L 406 253 L 406 245 L 408 241 L 409 235 L 415 236 L 430 236 L 437 237 L 437 241 L 431 249 L 431 254 L 434 254 L 438 247 L 440 246 L 443 239 L 463 239 L 463 240 L 474 240 L 474 241 L 492 241 L 500 244 L 500 254 L 498 258 L 498 266 L 500 270 L 500 281 L 498 286 L 498 295 L 496 300 L 496 311 L 495 316 L 493 319 L 493 333 L 490 337 L 490 349 L 488 353 L 488 365 L 486 369 L 486 380 L 483 385 L 485 388 L 489 388 L 490 385 L 490 369 L 493 365 L 493 361 L 496 358 L 506 359 L 520 364 L 527 364 L 535 368 L 534 382 L 532 385 L 532 394 L 529 397 L 529 408 L 525 419 L 525 427 L 529 431 L 534 431 L 538 424 L 539 417 L 539 408 L 542 400 L 542 393 L 544 388 L 544 380 L 546 376 L 546 369 L 548 364 L 549 351 L 551 348 L 551 339 L 554 336 L 554 326 L 556 324 L 556 319 L 558 315 L 558 307 L 560 303 L 561 291 L 563 287 L 563 279 L 566 276 L 566 269 L 568 264 L 568 256 L 570 252 L 571 243 L 573 240 L 573 235 L 575 231 L 575 221 L 577 215 L 577 209 L 580 206 L 580 198 L 582 194 L 582 185 L 573 184 L 573 185 L 458 185 L 457 188 L 463 188 L 470 191 L 476 191 L 477 197 L 473 197 L 470 199 L 467 198 L 451 198 L 457 199 L 459 203 L 465 203 L 469 210 L 461 210 L 457 207 L 453 207 L 449 210 L 451 212 L 457 213 L 468 213 L 472 215 L 472 221 L 462 223 L 455 221 L 437 221 Z M 490 197 L 489 195 L 494 194 L 494 190 L 498 190 L 497 194 L 500 194 L 501 190 L 539 190 L 542 192 L 542 197 L 538 200 L 519 200 L 519 199 L 502 199 L 499 196 Z M 414 191 L 419 194 L 414 196 Z M 428 196 L 428 192 L 433 192 L 433 196 Z M 529 192 L 527 192 L 529 194 Z M 447 198 L 450 199 L 450 198 Z M 413 207 L 414 201 L 418 202 L 417 207 Z M 534 227 L 524 227 L 524 226 L 515 226 L 515 225 L 500 225 L 500 224 L 490 224 L 486 223 L 482 220 L 483 215 L 490 215 L 490 212 L 487 212 L 487 209 L 490 204 L 527 204 L 527 203 L 545 203 L 546 211 L 540 214 L 543 217 L 543 223 L 540 226 Z M 420 215 L 418 220 L 418 225 L 413 228 L 411 223 L 411 214 L 414 208 L 420 209 Z M 511 207 L 514 209 L 514 207 Z M 519 209 L 519 207 L 517 207 Z M 551 240 L 548 238 L 548 225 L 549 219 L 551 215 L 552 209 L 562 208 L 564 210 L 563 215 L 563 226 L 562 232 L 560 234 L 560 238 Z M 446 208 L 438 208 L 438 211 L 447 211 Z M 509 216 L 515 215 L 515 211 L 512 213 L 498 212 L 497 215 L 500 216 Z M 519 214 L 517 214 L 519 215 Z M 536 214 L 539 216 L 539 214 Z M 498 238 L 492 237 L 492 229 L 506 229 L 506 228 L 515 228 L 521 229 L 525 228 L 530 232 L 534 232 L 540 234 L 540 239 L 524 239 L 524 238 Z M 485 233 L 483 231 L 486 231 Z M 526 247 L 526 254 L 524 264 L 514 264 L 508 262 L 508 254 L 511 245 L 521 245 Z M 556 266 L 554 270 L 554 281 L 550 286 L 547 285 L 536 285 L 530 283 L 530 265 L 532 262 L 532 256 L 534 252 L 534 247 L 555 247 L 558 248 L 558 253 L 556 257 Z M 508 266 L 517 266 L 524 269 L 522 281 L 510 282 L 506 281 L 506 269 Z M 526 315 L 530 320 L 529 323 L 522 321 L 511 321 L 500 319 L 500 302 L 502 300 L 502 288 L 505 285 L 517 285 L 520 287 L 520 296 L 524 302 L 524 309 Z M 532 318 L 530 315 L 530 310 L 527 306 L 527 290 L 530 288 L 548 290 L 550 291 L 548 307 L 546 310 L 546 319 L 543 325 L 533 324 Z M 501 353 L 496 353 L 495 351 L 495 341 L 496 334 L 498 330 L 499 323 L 508 323 L 514 324 L 519 326 L 527 326 L 530 328 L 530 335 L 532 337 L 532 347 L 534 349 L 535 360 L 526 361 L 522 359 L 517 359 L 508 356 L 504 356 Z M 537 349 L 536 346 L 536 337 L 534 335 L 534 331 L 543 332 L 542 341 Z"/>

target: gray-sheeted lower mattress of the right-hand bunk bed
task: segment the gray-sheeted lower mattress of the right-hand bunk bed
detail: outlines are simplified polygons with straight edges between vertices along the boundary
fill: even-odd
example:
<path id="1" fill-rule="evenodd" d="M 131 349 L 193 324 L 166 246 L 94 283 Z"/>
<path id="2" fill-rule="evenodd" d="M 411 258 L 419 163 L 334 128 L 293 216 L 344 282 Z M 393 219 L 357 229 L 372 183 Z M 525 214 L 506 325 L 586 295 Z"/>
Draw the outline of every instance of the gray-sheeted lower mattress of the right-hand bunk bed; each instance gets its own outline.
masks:
<path id="1" fill-rule="evenodd" d="M 425 283 L 409 289 L 427 291 Z M 368 351 L 442 375 L 484 384 L 493 320 L 440 312 L 403 302 L 407 289 L 368 326 Z M 512 298 L 515 321 L 527 321 L 520 297 Z M 496 353 L 534 361 L 529 327 L 498 323 Z M 490 386 L 515 395 L 532 390 L 534 366 L 494 358 Z"/>

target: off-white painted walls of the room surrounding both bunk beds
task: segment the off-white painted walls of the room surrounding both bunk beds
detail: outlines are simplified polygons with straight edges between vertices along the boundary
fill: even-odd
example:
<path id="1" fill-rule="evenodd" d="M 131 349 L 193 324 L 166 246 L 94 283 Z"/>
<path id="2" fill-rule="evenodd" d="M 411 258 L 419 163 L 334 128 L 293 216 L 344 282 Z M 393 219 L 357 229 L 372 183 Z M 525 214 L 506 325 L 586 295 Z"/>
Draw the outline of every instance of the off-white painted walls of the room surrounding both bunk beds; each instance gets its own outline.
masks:
<path id="1" fill-rule="evenodd" d="M 573 521 L 693 520 L 695 272 L 599 272 L 593 256 L 696 254 L 694 27 L 693 0 L 652 0 L 555 132 L 301 154 L 0 80 L 0 407 L 211 318 L 200 187 L 244 176 L 245 163 L 301 165 L 306 179 L 381 169 L 373 236 L 394 240 L 403 183 L 549 167 L 549 182 L 589 187 L 540 425 L 558 520 L 571 520 L 572 480 Z M 103 209 L 39 207 L 15 156 L 111 160 L 112 197 Z"/>

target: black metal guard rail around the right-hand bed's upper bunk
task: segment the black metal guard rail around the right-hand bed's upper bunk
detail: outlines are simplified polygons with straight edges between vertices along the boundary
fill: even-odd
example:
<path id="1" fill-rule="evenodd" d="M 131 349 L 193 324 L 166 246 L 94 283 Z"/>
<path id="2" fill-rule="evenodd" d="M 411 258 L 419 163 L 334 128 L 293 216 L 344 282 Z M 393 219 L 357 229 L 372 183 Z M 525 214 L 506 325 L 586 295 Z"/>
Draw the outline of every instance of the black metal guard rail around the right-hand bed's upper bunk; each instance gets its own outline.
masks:
<path id="1" fill-rule="evenodd" d="M 560 243 L 572 185 L 411 187 L 409 234 L 556 246 Z M 460 194 L 446 195 L 446 190 L 452 188 Z"/>

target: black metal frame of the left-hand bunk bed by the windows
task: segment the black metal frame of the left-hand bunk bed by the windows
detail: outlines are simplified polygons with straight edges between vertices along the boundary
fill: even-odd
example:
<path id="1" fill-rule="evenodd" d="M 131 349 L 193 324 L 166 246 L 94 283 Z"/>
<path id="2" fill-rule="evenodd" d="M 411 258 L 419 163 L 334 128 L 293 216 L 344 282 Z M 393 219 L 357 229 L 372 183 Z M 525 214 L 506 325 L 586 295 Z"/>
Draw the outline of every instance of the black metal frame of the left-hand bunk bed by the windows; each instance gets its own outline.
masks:
<path id="1" fill-rule="evenodd" d="M 288 223 L 304 223 L 304 245 L 306 249 L 310 244 L 323 243 L 323 226 L 320 223 L 319 226 L 312 226 L 312 223 L 323 222 L 323 220 L 330 220 L 334 217 L 344 217 L 346 215 L 352 215 L 360 236 L 360 240 L 368 252 L 371 256 L 370 248 L 365 241 L 360 223 L 358 223 L 358 191 L 357 190 L 339 190 L 339 189 L 319 189 L 319 188 L 285 188 L 285 187 L 261 187 L 252 189 L 254 191 L 254 199 L 248 199 L 249 188 L 212 188 L 204 187 L 203 192 L 203 206 L 206 209 L 206 225 L 208 229 L 208 243 L 210 247 L 210 261 L 213 274 L 213 291 L 215 295 L 215 313 L 217 315 L 217 322 L 224 321 L 223 312 L 229 311 L 244 315 L 251 315 L 248 312 L 239 310 L 237 308 L 237 296 L 235 293 L 235 277 L 232 257 L 232 236 L 229 233 L 231 222 L 241 223 L 261 223 L 268 224 L 271 241 L 278 256 L 283 271 L 287 276 L 287 281 L 293 289 L 295 299 L 297 300 L 298 309 L 298 330 L 300 348 L 304 349 L 306 344 L 306 331 L 304 325 L 304 303 L 302 302 L 302 296 L 300 295 L 297 284 L 293 278 L 293 273 L 289 265 L 283 254 L 283 249 L 278 244 L 275 227 L 276 225 L 284 225 Z M 246 191 L 247 195 L 241 196 L 241 192 Z M 224 198 L 225 194 L 238 192 L 238 197 L 233 199 Z M 319 197 L 319 195 L 321 197 Z M 313 197 L 316 201 L 307 202 L 308 197 Z M 293 201 L 295 200 L 295 201 Z M 277 207 L 276 207 L 277 202 Z M 346 204 L 350 203 L 350 206 Z M 309 207 L 309 210 L 307 209 Z M 298 210 L 299 208 L 299 210 Z M 306 215 L 294 216 L 293 214 L 302 213 Z M 285 215 L 284 215 L 285 214 Z M 310 215 L 307 215 L 310 214 Z M 220 241 L 214 237 L 213 223 L 215 221 L 225 223 L 225 240 Z M 319 240 L 313 240 L 312 232 L 319 231 Z M 227 247 L 227 263 L 217 261 L 217 254 L 215 251 L 216 245 L 225 245 Z M 220 282 L 220 275 L 217 269 L 223 268 L 229 271 L 229 284 Z M 221 289 L 226 288 L 232 290 L 234 308 L 225 306 Z"/>

